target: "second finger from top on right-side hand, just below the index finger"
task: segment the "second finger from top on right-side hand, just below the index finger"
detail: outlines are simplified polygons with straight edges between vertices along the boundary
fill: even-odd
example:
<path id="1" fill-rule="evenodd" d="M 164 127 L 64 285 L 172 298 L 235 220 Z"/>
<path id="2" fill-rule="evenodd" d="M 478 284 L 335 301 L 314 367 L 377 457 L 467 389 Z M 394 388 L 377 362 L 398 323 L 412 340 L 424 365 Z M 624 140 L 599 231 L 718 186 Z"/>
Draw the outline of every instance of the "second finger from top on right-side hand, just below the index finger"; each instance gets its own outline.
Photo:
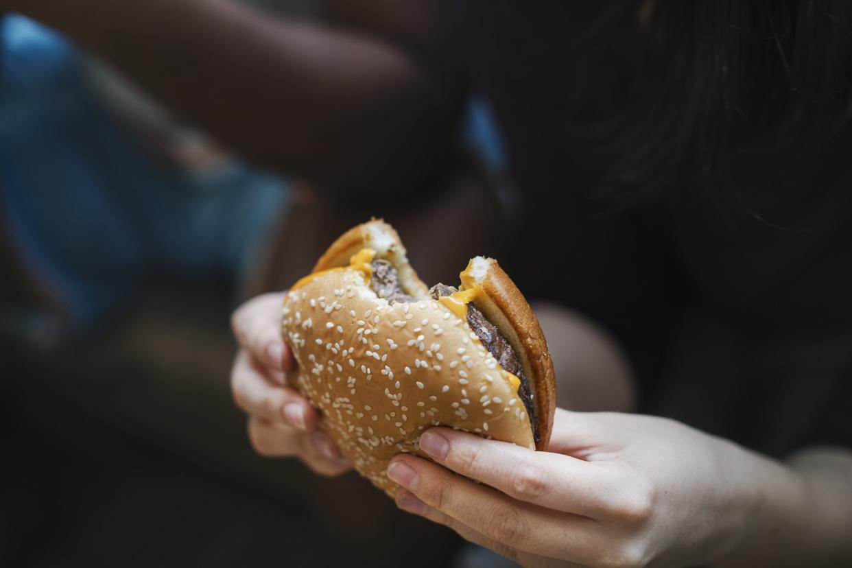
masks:
<path id="1" fill-rule="evenodd" d="M 588 546 L 596 521 L 526 502 L 477 485 L 435 463 L 411 455 L 394 457 L 388 476 L 421 501 L 486 538 L 533 554 L 572 558 Z"/>

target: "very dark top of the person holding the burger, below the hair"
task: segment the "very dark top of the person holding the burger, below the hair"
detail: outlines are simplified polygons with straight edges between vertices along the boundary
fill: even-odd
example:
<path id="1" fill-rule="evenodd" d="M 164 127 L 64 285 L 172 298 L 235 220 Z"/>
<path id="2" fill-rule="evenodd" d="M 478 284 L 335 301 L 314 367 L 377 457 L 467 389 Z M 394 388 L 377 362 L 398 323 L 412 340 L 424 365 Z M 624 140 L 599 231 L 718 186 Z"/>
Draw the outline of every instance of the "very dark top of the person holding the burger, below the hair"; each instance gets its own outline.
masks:
<path id="1" fill-rule="evenodd" d="M 637 15 L 617 2 L 455 5 L 521 188 L 522 289 L 611 330 L 644 410 L 776 454 L 852 445 L 852 398 L 832 396 L 852 383 L 852 135 L 792 159 L 734 156 L 600 217 L 587 125 L 625 105 Z"/>

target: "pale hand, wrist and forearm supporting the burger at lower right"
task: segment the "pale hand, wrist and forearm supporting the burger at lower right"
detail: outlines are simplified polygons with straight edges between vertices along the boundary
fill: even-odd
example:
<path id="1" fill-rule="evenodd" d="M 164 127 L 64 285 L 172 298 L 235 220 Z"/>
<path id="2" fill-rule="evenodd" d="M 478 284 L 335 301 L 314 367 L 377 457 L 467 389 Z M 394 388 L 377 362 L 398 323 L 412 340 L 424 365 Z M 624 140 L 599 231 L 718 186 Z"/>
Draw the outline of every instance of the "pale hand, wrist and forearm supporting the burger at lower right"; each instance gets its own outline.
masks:
<path id="1" fill-rule="evenodd" d="M 780 463 L 666 419 L 566 410 L 547 452 L 446 428 L 420 448 L 440 465 L 394 458 L 400 507 L 524 565 L 852 562 L 848 450 Z"/>

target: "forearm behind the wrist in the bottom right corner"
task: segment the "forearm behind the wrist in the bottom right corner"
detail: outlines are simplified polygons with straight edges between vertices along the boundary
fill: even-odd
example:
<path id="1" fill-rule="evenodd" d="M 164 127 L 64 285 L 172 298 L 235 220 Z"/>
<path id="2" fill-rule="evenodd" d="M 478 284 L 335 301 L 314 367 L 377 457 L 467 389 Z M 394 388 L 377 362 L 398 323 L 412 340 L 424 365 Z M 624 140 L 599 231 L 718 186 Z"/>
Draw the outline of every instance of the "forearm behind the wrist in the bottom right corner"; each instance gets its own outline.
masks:
<path id="1" fill-rule="evenodd" d="M 744 463 L 750 506 L 718 566 L 852 565 L 849 451 L 803 450 L 784 463 L 747 453 Z"/>

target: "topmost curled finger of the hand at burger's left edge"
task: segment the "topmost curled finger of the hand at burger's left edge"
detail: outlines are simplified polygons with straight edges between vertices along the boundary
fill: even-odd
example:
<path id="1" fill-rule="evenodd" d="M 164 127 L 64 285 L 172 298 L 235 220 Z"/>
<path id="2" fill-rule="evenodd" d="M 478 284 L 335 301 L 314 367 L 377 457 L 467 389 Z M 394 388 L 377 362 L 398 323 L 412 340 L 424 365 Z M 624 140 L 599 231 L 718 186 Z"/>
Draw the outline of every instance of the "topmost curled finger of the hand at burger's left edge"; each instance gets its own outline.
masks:
<path id="1" fill-rule="evenodd" d="M 283 301 L 283 293 L 259 295 L 233 313 L 231 327 L 239 345 L 252 357 L 274 370 L 287 372 L 293 366 L 293 355 L 281 337 Z"/>

